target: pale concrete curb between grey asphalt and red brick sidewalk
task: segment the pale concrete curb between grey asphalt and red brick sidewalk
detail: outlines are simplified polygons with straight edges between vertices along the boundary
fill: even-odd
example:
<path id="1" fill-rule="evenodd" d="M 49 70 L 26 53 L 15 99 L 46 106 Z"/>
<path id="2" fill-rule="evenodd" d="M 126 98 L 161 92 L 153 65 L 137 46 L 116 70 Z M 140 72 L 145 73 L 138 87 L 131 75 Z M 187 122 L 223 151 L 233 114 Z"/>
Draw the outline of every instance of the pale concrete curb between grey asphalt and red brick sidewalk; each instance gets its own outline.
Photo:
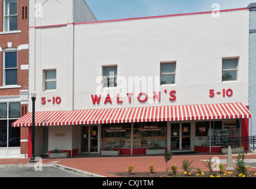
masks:
<path id="1" fill-rule="evenodd" d="M 0 165 L 0 168 L 21 168 L 21 167 L 40 167 L 40 165 L 42 167 L 54 167 L 54 168 L 59 168 L 60 170 L 63 171 L 69 171 L 69 172 L 73 172 L 76 174 L 80 174 L 80 175 L 85 175 L 86 177 L 105 177 L 102 175 L 98 175 L 98 174 L 94 174 L 92 172 L 87 172 L 87 171 L 81 171 L 81 170 L 77 170 L 75 168 L 70 168 L 70 167 L 66 167 L 63 165 L 59 165 L 59 164 L 12 164 L 12 165 Z"/>

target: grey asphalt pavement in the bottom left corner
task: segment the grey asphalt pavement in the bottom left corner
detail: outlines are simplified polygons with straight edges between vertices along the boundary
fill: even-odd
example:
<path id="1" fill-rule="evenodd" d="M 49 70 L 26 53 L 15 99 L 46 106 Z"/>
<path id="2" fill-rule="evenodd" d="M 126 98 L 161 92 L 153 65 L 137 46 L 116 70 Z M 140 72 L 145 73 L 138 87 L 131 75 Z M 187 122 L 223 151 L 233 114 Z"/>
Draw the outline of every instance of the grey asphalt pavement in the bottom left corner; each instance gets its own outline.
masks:
<path id="1" fill-rule="evenodd" d="M 86 175 L 55 167 L 42 167 L 37 171 L 34 167 L 5 167 L 0 168 L 0 177 L 86 177 Z"/>

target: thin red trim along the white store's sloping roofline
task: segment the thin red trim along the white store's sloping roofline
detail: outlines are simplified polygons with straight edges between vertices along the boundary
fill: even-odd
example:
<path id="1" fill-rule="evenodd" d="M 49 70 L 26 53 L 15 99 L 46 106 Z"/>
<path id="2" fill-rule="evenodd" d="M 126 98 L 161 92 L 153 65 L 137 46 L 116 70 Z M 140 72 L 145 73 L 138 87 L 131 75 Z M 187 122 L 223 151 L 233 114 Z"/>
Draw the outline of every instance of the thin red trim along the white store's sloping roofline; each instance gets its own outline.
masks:
<path id="1" fill-rule="evenodd" d="M 225 10 L 220 10 L 219 12 L 231 12 L 231 11 L 242 11 L 242 10 L 248 10 L 248 7 L 245 7 L 245 8 L 235 8 L 235 9 L 225 9 Z M 136 19 L 152 19 L 152 18 L 165 18 L 165 17 L 181 17 L 181 16 L 187 16 L 187 15 L 199 15 L 199 14 L 212 14 L 212 11 L 192 12 L 192 13 L 172 14 L 172 15 L 161 15 L 161 16 L 153 16 L 153 17 L 111 19 L 111 20 L 92 21 L 92 22 L 77 22 L 77 23 L 56 24 L 56 25 L 42 25 L 42 26 L 34 26 L 34 27 L 28 27 L 28 28 L 62 27 L 62 26 L 70 25 L 70 24 L 73 24 L 73 25 L 98 24 L 98 23 L 105 23 L 105 22 L 120 22 L 120 21 L 131 21 L 131 20 L 136 20 Z"/>

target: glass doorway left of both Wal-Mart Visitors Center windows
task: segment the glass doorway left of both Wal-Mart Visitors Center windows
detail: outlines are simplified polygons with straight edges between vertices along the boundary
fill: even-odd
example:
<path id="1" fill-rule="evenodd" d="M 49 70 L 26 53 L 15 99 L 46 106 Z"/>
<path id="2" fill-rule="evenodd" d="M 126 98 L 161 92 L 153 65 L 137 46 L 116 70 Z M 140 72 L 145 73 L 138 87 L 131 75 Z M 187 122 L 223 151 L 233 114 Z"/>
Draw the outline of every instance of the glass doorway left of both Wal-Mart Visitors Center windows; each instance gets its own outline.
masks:
<path id="1" fill-rule="evenodd" d="M 82 126 L 81 152 L 98 153 L 98 125 Z"/>

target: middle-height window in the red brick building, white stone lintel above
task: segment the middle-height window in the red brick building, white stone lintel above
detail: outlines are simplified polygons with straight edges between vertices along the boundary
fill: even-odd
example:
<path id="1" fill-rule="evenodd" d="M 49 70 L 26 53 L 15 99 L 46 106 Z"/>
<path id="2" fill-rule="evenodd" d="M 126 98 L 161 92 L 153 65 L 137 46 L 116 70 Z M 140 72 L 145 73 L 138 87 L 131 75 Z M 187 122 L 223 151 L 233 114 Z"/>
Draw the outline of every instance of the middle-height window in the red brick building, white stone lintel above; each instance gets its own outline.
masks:
<path id="1" fill-rule="evenodd" d="M 4 51 L 4 85 L 17 84 L 17 51 Z"/>

